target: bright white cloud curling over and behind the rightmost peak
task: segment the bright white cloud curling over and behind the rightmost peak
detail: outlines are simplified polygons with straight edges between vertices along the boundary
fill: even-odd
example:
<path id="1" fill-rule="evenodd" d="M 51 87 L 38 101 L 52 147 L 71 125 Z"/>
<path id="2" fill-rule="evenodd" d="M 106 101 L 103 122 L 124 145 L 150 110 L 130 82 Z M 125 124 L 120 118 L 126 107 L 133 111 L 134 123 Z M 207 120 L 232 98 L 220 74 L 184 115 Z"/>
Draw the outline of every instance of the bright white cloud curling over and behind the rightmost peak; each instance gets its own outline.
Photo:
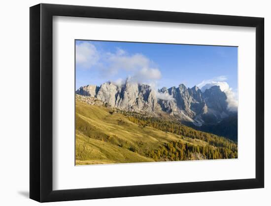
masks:
<path id="1" fill-rule="evenodd" d="M 229 111 L 237 111 L 237 94 L 233 91 L 232 88 L 230 88 L 229 84 L 225 82 L 227 78 L 225 76 L 215 77 L 211 80 L 203 80 L 203 82 L 199 83 L 197 86 L 204 92 L 206 89 L 212 87 L 212 86 L 219 86 L 221 91 L 223 91 L 228 102 L 228 110 Z"/>

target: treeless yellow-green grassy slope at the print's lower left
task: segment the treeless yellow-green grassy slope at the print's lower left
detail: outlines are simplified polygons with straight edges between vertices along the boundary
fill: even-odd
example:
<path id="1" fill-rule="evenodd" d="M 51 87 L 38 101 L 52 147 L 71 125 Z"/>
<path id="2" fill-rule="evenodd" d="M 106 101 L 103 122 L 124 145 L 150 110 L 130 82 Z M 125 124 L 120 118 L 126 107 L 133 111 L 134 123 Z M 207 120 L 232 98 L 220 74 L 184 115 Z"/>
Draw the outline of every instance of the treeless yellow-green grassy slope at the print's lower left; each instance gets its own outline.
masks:
<path id="1" fill-rule="evenodd" d="M 120 113 L 110 114 L 104 106 L 76 100 L 76 165 L 154 162 L 147 153 L 172 141 L 207 144 L 203 140 L 140 126 Z"/>

